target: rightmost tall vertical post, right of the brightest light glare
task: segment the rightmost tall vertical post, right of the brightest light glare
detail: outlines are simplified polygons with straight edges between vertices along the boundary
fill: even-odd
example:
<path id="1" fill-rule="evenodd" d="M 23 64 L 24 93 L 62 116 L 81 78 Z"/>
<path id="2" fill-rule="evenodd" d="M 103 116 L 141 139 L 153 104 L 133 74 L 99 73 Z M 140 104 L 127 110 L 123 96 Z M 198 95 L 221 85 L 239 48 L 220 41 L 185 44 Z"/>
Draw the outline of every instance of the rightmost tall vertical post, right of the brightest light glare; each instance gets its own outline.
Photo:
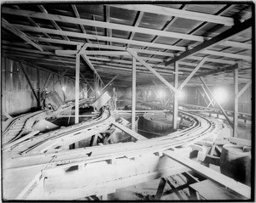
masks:
<path id="1" fill-rule="evenodd" d="M 237 138 L 237 125 L 238 125 L 238 98 L 236 94 L 238 93 L 238 70 L 240 68 L 240 64 L 238 67 L 234 69 L 234 118 L 233 118 L 233 137 Z"/>

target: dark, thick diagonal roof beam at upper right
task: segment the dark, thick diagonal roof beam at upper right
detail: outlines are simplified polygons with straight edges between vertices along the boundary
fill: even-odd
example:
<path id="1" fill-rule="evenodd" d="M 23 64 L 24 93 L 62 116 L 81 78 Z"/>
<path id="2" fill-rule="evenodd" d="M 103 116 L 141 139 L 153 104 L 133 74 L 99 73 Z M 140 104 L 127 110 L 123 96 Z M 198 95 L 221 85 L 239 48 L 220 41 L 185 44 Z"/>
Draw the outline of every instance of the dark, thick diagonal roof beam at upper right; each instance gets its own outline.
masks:
<path id="1" fill-rule="evenodd" d="M 177 60 L 184 59 L 184 58 L 188 57 L 189 55 L 196 54 L 196 53 L 202 52 L 204 49 L 216 46 L 220 42 L 227 41 L 230 37 L 234 37 L 236 35 L 241 34 L 243 31 L 246 31 L 247 28 L 251 27 L 252 25 L 253 25 L 252 19 L 246 20 L 239 25 L 235 25 L 232 28 L 230 28 L 228 31 L 224 31 L 223 33 L 219 34 L 217 37 L 213 37 L 212 39 L 199 44 L 195 48 L 187 50 L 187 51 L 183 52 L 182 54 L 178 55 L 177 57 L 175 57 L 169 61 L 166 61 L 165 65 L 170 65 L 170 64 L 176 62 Z"/>

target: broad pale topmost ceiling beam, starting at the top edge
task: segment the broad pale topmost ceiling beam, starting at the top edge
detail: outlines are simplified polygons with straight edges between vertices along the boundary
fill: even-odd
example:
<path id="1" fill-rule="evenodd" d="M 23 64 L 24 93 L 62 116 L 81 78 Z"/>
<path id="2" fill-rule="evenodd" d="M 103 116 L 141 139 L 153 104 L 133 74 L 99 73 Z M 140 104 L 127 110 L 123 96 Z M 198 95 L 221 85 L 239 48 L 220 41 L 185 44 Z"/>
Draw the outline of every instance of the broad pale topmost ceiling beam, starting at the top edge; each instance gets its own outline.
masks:
<path id="1" fill-rule="evenodd" d="M 180 10 L 176 8 L 166 8 L 149 4 L 110 4 L 110 6 L 115 8 L 125 8 L 129 10 L 143 11 L 151 14 L 176 16 L 178 18 L 189 20 L 207 21 L 227 26 L 234 25 L 234 20 L 230 17 L 216 16 L 212 14 L 201 14 L 193 11 Z"/>

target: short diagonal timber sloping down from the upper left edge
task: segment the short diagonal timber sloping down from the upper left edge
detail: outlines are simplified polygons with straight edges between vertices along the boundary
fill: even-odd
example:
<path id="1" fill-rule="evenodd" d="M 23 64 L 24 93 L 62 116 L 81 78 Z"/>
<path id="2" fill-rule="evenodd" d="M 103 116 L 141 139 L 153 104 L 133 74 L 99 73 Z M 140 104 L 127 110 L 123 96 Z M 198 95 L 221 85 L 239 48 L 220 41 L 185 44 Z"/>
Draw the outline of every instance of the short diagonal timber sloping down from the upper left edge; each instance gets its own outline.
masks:
<path id="1" fill-rule="evenodd" d="M 12 33 L 14 33 L 15 36 L 20 37 L 24 41 L 28 42 L 34 48 L 37 48 L 40 51 L 44 51 L 43 48 L 41 48 L 37 43 L 32 42 L 32 40 L 24 32 L 20 31 L 19 29 L 16 29 L 13 25 L 9 24 L 9 22 L 3 18 L 2 18 L 2 26 L 8 31 L 11 31 Z"/>

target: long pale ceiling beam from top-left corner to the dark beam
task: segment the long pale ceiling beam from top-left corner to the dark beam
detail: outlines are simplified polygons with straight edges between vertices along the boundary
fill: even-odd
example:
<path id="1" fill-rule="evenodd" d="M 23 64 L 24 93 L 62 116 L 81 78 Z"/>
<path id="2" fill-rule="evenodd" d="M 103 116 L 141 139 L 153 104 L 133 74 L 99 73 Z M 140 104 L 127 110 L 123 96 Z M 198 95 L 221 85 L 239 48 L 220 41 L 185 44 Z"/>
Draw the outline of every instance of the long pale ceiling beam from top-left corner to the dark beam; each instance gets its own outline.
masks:
<path id="1" fill-rule="evenodd" d="M 42 7 L 40 7 L 40 8 L 42 9 L 42 11 L 44 11 L 44 12 L 46 11 L 44 8 L 42 8 Z M 191 40 L 191 41 L 196 41 L 196 42 L 204 42 L 205 41 L 205 37 L 194 36 L 194 35 L 183 34 L 183 33 L 172 32 L 172 31 L 159 31 L 159 30 L 148 29 L 148 28 L 143 28 L 143 27 L 113 24 L 113 23 L 101 22 L 101 21 L 96 21 L 96 20 L 78 19 L 78 18 L 68 17 L 68 16 L 64 16 L 64 15 L 37 13 L 37 12 L 32 12 L 32 11 L 27 11 L 27 10 L 19 10 L 19 12 L 15 12 L 15 9 L 13 9 L 13 8 L 2 8 L 2 9 L 3 9 L 3 14 L 15 14 L 15 15 L 32 17 L 32 18 L 51 20 L 52 22 L 61 21 L 61 22 L 68 22 L 68 23 L 73 23 L 73 24 L 108 28 L 111 30 L 114 29 L 114 30 L 119 30 L 119 31 L 140 32 L 143 34 L 148 34 L 148 35 L 153 35 L 153 36 L 172 37 L 172 38 L 177 38 L 177 39 L 182 38 L 185 40 Z M 219 17 L 216 15 L 213 15 L 213 16 Z M 57 27 L 55 25 L 55 27 L 58 30 L 61 29 L 59 26 Z M 234 43 L 234 46 L 239 46 L 239 42 Z M 241 46 L 243 46 L 243 45 L 241 45 Z"/>

